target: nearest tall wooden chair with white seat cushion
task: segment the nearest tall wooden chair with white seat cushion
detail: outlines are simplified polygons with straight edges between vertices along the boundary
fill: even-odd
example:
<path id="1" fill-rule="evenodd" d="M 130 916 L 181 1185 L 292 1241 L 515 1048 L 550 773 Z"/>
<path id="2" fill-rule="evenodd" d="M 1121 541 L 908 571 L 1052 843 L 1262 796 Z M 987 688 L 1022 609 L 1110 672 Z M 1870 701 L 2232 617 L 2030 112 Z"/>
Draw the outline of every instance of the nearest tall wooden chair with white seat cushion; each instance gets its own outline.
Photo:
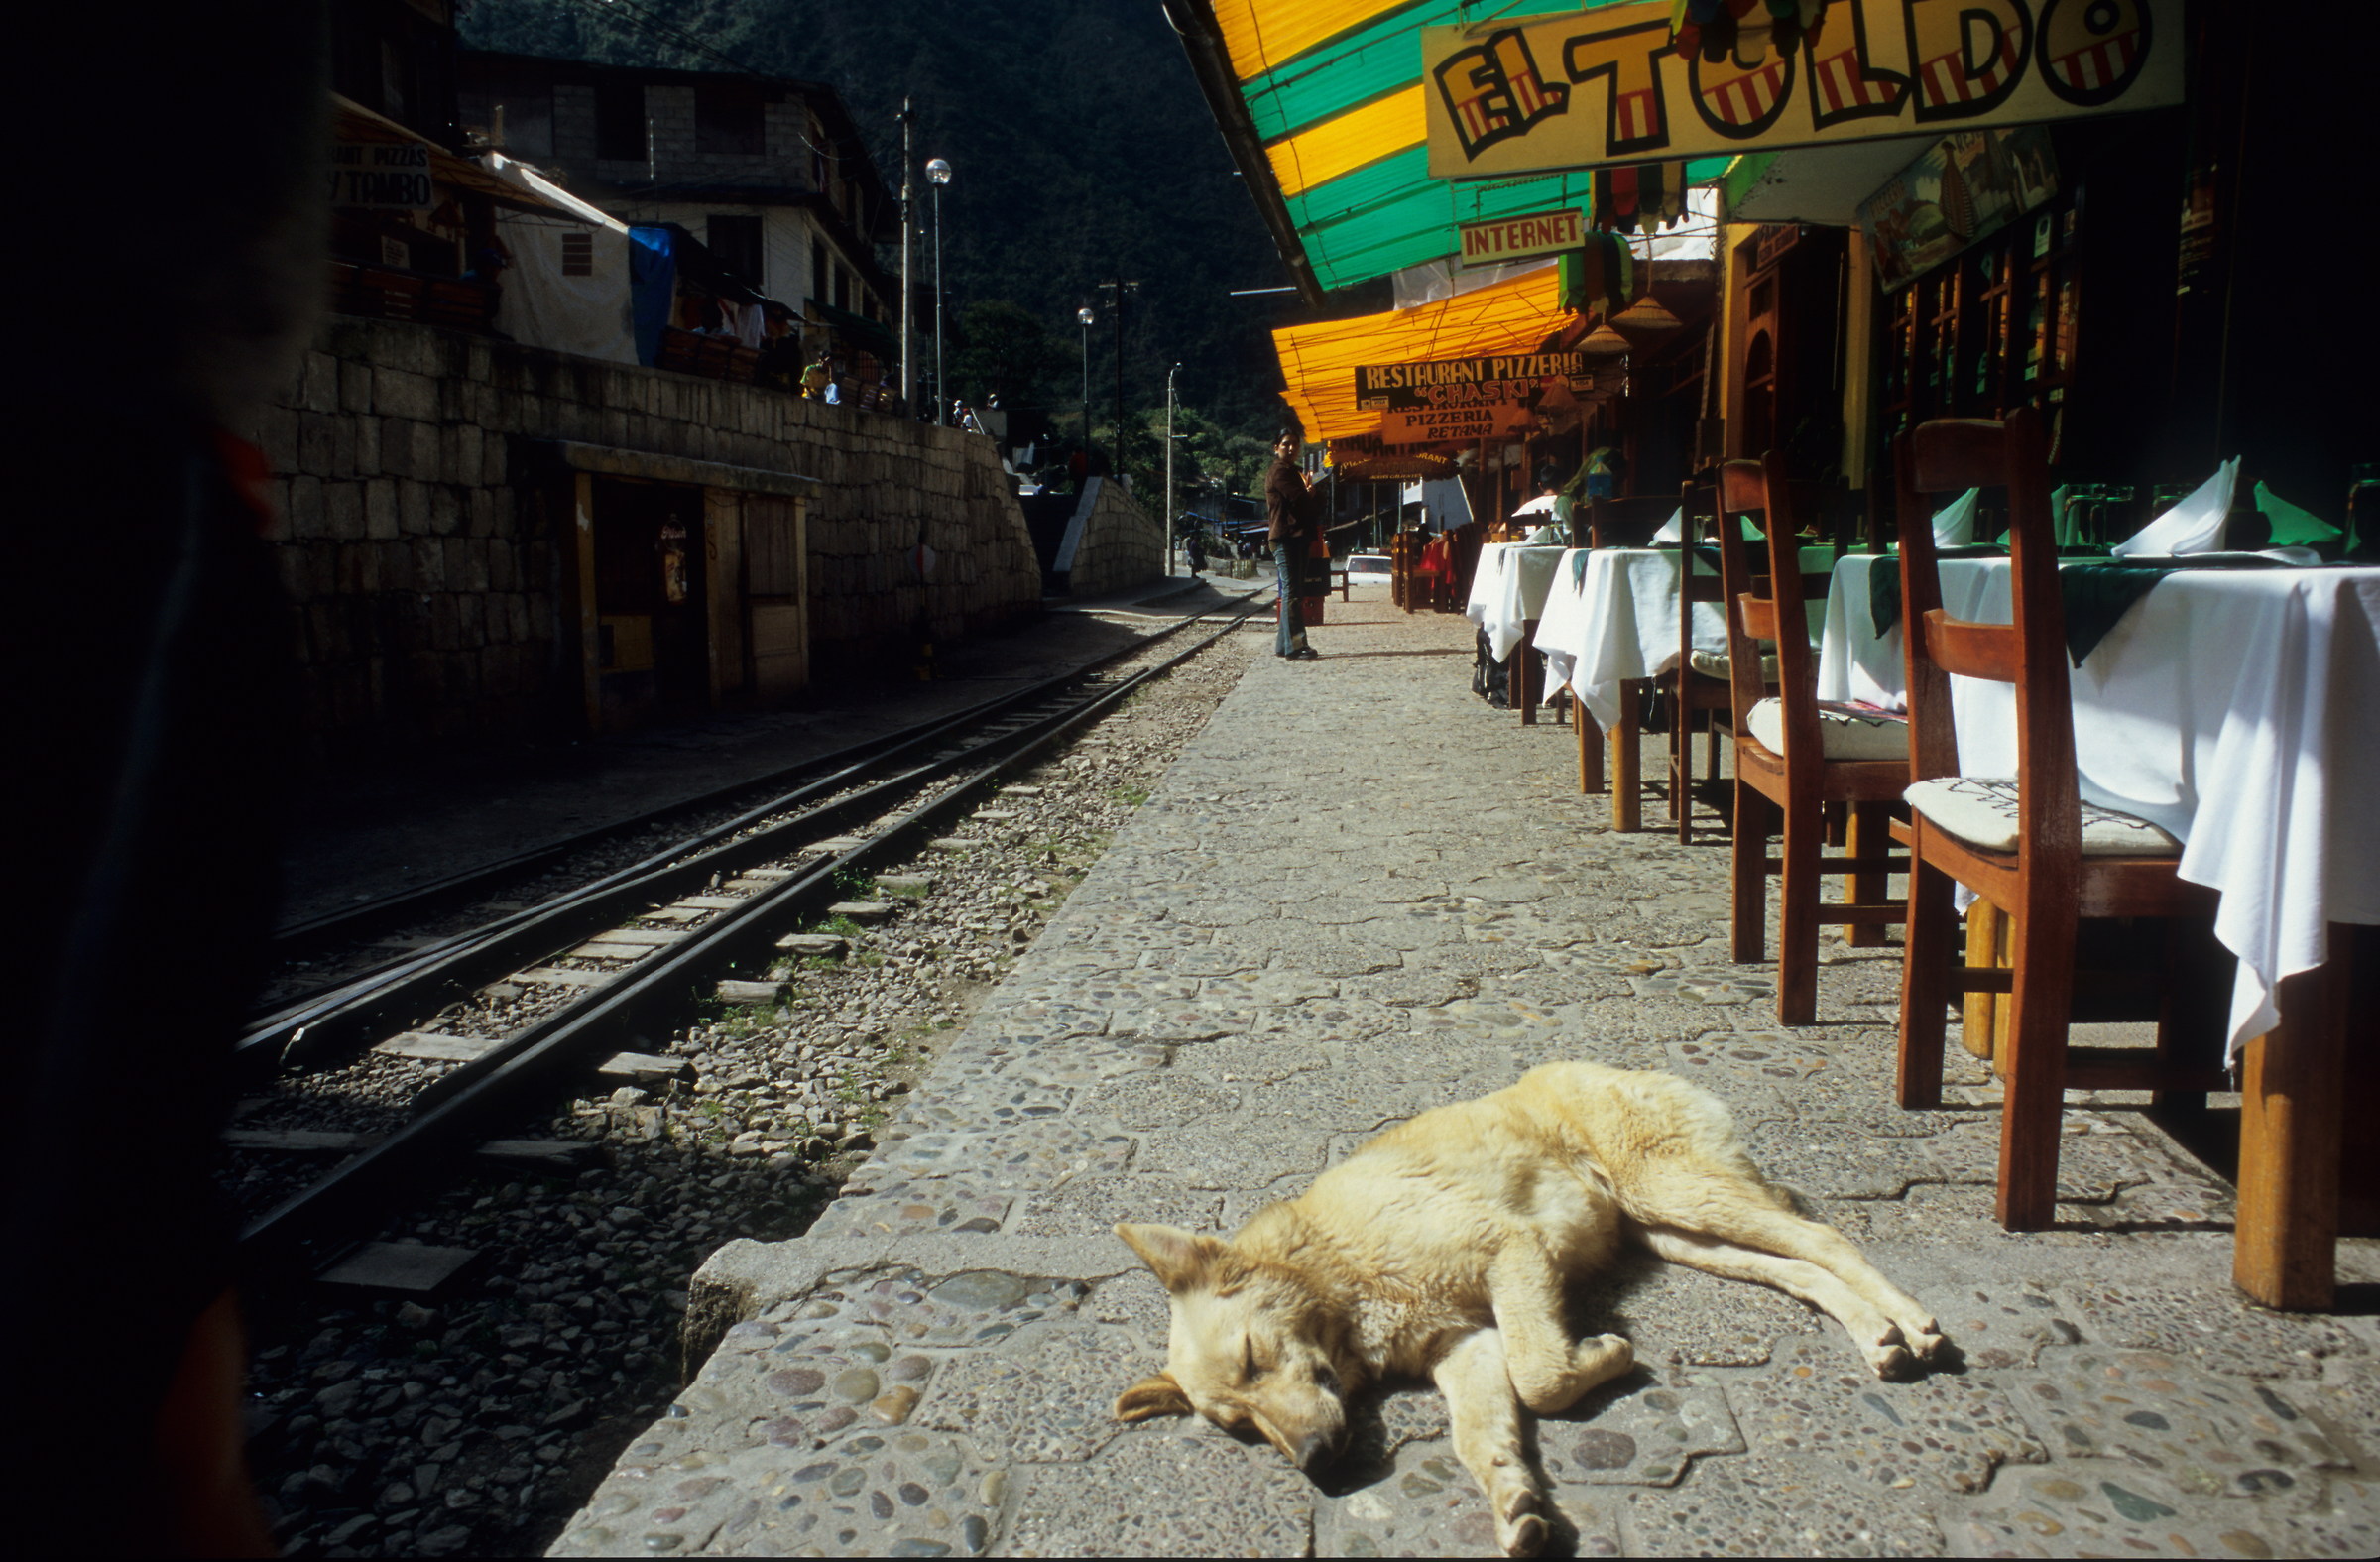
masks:
<path id="1" fill-rule="evenodd" d="M 2175 874 L 2180 845 L 2130 814 L 2080 798 L 2073 698 L 2066 683 L 2066 612 L 2042 426 L 2033 410 L 2004 424 L 1940 419 L 1897 450 L 1902 519 L 1902 645 L 1909 669 L 1911 855 L 1909 948 L 1902 964 L 1899 1102 L 1942 1102 L 1944 1005 L 1954 993 L 2006 993 L 1994 1055 L 2006 1081 L 1999 1117 L 1999 1224 L 2052 1224 L 2059 1117 L 2066 1091 L 2156 1091 L 2166 1098 L 2223 1088 L 2216 1060 L 2194 1060 L 2187 1005 L 2163 991 L 2156 1050 L 2068 1045 L 2075 933 L 2085 917 L 2180 919 L 2182 938 L 2213 919 L 2213 891 Z M 1928 493 L 2004 486 L 2009 493 L 2013 624 L 1968 624 L 1942 612 Z M 1949 676 L 2016 686 L 2016 779 L 1959 776 Z M 2009 964 L 1968 967 L 1956 950 L 1952 883 L 2009 919 Z M 2180 941 L 2173 941 L 2178 948 Z M 2221 1014 L 2221 1007 L 2216 1010 Z M 2209 1038 L 2211 1041 L 2211 1038 Z"/>

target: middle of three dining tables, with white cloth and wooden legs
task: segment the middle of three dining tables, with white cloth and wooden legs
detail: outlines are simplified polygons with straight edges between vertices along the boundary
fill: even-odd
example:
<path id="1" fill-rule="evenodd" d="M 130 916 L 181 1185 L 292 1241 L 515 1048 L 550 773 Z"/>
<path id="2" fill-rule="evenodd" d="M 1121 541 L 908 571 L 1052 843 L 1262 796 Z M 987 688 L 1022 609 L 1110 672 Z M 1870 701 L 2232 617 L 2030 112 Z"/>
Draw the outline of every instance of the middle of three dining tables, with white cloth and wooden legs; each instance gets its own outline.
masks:
<path id="1" fill-rule="evenodd" d="M 1752 543 L 1764 548 L 1764 543 Z M 1706 557 L 1709 555 L 1709 557 Z M 1697 548 L 1568 548 L 1554 567 L 1554 586 L 1537 619 L 1535 645 L 1545 652 L 1547 688 L 1568 688 L 1578 700 L 1578 791 L 1604 791 L 1604 738 L 1611 745 L 1611 829 L 1642 829 L 1645 779 L 1640 764 L 1640 712 L 1645 686 L 1678 667 L 1678 602 L 1685 595 L 1683 560 L 1697 574 L 1718 574 L 1716 545 Z M 1802 550 L 1802 567 L 1823 571 L 1835 550 Z M 1818 605 L 1809 605 L 1816 633 Z M 1718 602 L 1692 605 L 1697 652 L 1728 650 L 1728 619 Z"/>

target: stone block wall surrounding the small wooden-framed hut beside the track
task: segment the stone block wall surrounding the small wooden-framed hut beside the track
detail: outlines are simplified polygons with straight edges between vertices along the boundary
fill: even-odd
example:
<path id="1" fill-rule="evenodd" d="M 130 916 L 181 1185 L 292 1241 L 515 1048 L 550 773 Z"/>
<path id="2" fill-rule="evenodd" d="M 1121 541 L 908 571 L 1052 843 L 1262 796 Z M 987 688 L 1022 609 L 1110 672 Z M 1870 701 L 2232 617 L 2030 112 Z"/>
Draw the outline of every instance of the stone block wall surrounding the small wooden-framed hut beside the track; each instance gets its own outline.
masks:
<path id="1" fill-rule="evenodd" d="M 543 441 L 821 479 L 809 502 L 812 674 L 904 657 L 1040 610 L 992 443 L 778 390 L 336 317 L 252 431 L 305 721 L 321 750 L 569 729 L 571 526 Z M 919 541 L 935 552 L 921 581 Z"/>

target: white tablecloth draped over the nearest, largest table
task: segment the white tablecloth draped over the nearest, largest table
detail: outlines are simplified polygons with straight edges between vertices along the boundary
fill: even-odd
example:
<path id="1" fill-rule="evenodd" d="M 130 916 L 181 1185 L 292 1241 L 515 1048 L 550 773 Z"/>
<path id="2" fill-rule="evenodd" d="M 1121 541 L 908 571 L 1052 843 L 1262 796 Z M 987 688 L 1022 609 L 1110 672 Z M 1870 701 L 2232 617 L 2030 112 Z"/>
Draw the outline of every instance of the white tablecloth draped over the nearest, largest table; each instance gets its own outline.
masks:
<path id="1" fill-rule="evenodd" d="M 1828 593 L 1821 698 L 1899 702 L 1899 626 L 1868 621 L 1854 557 Z M 2006 560 L 1942 560 L 1944 610 L 2011 619 Z M 1842 631 L 1837 636 L 1837 629 Z M 2071 669 L 2082 795 L 2182 841 L 2240 955 L 2230 1048 L 2280 1019 L 2273 988 L 2328 957 L 2332 921 L 2380 924 L 2380 569 L 2185 571 Z M 2016 691 L 1952 679 L 1959 769 L 2016 774 Z"/>

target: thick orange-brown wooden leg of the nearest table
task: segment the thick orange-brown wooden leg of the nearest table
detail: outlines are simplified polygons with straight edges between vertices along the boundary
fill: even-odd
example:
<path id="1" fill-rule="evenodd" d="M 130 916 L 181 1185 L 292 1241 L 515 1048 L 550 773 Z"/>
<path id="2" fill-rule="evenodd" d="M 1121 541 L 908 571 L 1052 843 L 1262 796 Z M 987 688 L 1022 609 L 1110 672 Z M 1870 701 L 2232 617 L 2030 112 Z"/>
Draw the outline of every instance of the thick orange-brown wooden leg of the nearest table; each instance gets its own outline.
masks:
<path id="1" fill-rule="evenodd" d="M 2232 1283 L 2266 1307 L 2320 1312 L 2337 1293 L 2349 941 L 2280 983 L 2280 1026 L 2240 1057 L 2240 1224 Z"/>

